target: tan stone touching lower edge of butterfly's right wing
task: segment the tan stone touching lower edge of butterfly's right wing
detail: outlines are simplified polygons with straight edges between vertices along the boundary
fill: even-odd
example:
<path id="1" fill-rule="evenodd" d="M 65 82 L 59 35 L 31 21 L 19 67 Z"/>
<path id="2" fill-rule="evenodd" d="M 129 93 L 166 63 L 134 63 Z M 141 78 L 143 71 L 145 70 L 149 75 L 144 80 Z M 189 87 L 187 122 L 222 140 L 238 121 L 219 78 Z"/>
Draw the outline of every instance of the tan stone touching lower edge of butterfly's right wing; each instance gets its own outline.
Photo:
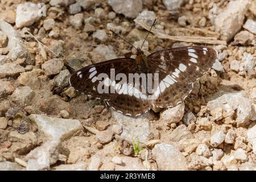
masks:
<path id="1" fill-rule="evenodd" d="M 184 115 L 185 105 L 184 103 L 179 104 L 175 107 L 166 109 L 160 113 L 160 119 L 164 121 L 166 125 L 179 122 Z"/>

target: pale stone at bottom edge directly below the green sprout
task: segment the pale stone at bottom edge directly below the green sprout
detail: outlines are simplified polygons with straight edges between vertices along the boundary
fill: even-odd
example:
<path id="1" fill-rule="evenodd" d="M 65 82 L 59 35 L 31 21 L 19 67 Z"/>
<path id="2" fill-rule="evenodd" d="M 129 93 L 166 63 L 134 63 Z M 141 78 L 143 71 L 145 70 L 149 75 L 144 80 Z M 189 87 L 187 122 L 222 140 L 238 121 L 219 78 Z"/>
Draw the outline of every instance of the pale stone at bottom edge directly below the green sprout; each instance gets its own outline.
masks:
<path id="1" fill-rule="evenodd" d="M 122 156 L 119 159 L 123 162 L 121 165 L 115 165 L 115 171 L 144 171 L 145 168 L 139 158 Z"/>

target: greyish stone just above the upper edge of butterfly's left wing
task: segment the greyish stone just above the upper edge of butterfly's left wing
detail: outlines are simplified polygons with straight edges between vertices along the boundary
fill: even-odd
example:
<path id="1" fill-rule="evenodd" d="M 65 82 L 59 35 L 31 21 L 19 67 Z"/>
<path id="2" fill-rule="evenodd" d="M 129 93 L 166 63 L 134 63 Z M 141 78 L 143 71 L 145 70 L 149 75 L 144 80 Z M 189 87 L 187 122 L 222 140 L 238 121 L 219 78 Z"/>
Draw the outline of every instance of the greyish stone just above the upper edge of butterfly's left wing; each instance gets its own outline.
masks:
<path id="1" fill-rule="evenodd" d="M 96 63 L 117 58 L 117 54 L 114 52 L 112 46 L 105 46 L 102 44 L 98 45 L 95 49 L 93 49 L 91 55 L 92 60 Z"/>

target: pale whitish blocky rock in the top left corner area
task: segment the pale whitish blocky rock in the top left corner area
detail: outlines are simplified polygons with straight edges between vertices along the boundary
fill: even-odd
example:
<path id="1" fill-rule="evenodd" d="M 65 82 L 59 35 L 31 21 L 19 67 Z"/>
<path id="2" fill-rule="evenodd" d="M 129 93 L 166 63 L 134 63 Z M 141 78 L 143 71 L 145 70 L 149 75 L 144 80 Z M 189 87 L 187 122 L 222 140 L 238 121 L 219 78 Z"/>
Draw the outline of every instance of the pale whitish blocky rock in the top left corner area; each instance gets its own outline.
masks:
<path id="1" fill-rule="evenodd" d="M 19 4 L 16 9 L 15 25 L 17 28 L 31 26 L 40 18 L 40 7 L 32 2 Z"/>

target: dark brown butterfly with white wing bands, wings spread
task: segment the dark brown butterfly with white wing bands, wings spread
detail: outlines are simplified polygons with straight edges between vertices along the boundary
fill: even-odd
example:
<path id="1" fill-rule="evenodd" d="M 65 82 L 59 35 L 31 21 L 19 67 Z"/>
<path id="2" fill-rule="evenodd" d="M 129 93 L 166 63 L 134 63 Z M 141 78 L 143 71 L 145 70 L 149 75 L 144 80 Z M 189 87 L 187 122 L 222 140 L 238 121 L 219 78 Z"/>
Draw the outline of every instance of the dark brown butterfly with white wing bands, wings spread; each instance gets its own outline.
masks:
<path id="1" fill-rule="evenodd" d="M 137 117 L 150 109 L 181 104 L 192 92 L 193 82 L 217 59 L 217 52 L 205 46 L 168 48 L 148 56 L 136 49 L 135 59 L 123 57 L 79 69 L 69 78 L 70 85 Z"/>

